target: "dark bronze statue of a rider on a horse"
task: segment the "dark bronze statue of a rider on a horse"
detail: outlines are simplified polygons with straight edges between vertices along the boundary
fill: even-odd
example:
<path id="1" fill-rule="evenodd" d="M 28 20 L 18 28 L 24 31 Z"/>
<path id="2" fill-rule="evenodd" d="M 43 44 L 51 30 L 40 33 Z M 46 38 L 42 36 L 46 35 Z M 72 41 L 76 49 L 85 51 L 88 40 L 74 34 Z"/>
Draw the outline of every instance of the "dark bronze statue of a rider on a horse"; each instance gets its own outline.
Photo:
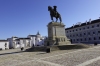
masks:
<path id="1" fill-rule="evenodd" d="M 61 15 L 56 11 L 57 6 L 53 6 L 53 7 L 54 9 L 52 9 L 51 6 L 48 6 L 48 11 L 50 11 L 51 20 L 54 22 L 53 17 L 55 17 L 57 22 L 59 18 L 61 23 L 62 22 Z"/>

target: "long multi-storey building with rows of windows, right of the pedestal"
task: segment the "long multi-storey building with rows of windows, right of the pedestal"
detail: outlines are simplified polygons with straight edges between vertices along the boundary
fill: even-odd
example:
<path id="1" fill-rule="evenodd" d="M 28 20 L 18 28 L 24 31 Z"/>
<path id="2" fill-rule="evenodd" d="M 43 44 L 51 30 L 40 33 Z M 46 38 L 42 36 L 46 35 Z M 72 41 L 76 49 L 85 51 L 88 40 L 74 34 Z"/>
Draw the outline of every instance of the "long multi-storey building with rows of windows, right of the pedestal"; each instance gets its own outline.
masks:
<path id="1" fill-rule="evenodd" d="M 65 31 L 72 43 L 100 43 L 100 19 L 73 25 Z"/>

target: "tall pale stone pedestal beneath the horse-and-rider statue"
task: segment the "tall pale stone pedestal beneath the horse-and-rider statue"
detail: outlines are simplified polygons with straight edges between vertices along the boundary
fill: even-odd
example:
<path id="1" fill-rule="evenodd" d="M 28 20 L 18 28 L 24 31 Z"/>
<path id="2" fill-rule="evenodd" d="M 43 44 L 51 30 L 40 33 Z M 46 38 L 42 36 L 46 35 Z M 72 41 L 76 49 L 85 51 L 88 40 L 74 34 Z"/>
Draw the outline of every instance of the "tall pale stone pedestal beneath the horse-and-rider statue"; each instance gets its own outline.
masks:
<path id="1" fill-rule="evenodd" d="M 71 44 L 65 34 L 65 25 L 60 22 L 50 22 L 48 25 L 48 39 L 50 45 Z"/>

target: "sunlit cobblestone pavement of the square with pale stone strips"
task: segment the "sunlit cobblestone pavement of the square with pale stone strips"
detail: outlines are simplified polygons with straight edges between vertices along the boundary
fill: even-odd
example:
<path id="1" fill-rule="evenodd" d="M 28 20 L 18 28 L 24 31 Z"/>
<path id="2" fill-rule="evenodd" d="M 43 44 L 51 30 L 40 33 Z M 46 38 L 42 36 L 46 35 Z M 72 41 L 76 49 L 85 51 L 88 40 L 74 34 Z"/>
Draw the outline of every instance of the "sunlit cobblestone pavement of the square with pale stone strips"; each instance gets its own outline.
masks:
<path id="1" fill-rule="evenodd" d="M 100 66 L 100 46 L 51 53 L 0 51 L 0 66 Z"/>

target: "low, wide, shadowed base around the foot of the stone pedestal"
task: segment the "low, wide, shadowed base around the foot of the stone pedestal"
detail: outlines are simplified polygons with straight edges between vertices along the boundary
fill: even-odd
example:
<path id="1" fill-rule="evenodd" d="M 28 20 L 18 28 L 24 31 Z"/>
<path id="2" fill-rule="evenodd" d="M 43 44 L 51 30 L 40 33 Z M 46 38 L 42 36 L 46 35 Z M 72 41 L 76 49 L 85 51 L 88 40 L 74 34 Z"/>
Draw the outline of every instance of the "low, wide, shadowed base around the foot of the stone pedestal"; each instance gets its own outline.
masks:
<path id="1" fill-rule="evenodd" d="M 83 49 L 83 48 L 89 48 L 91 47 L 90 45 L 86 44 L 71 44 L 71 45 L 55 45 L 55 46 L 50 46 L 51 51 L 55 50 L 71 50 L 71 49 Z M 42 47 L 34 47 L 34 48 L 29 48 L 26 51 L 46 51 L 46 46 Z"/>

